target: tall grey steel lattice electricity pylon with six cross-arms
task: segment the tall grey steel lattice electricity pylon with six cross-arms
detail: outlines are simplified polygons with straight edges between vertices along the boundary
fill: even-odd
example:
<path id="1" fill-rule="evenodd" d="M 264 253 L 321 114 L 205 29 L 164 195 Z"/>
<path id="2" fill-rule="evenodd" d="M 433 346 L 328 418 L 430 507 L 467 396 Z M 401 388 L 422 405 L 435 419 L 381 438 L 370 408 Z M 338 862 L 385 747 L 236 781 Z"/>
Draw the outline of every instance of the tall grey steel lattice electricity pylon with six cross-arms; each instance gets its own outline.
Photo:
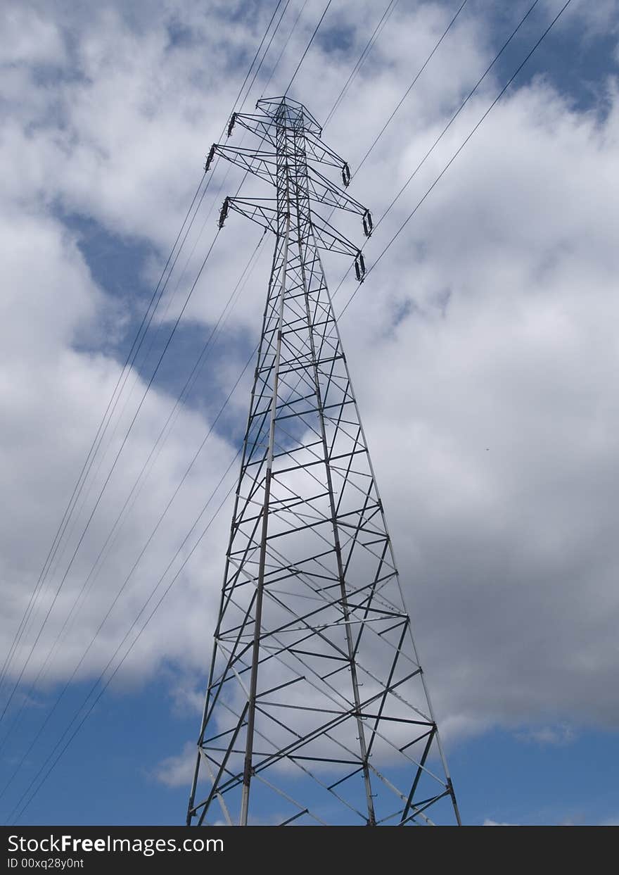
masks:
<path id="1" fill-rule="evenodd" d="M 314 203 L 372 217 L 288 97 L 218 155 L 275 186 L 226 198 L 275 234 L 187 823 L 459 823 L 319 250 L 358 248 Z M 431 809 L 431 810 L 429 810 Z"/>

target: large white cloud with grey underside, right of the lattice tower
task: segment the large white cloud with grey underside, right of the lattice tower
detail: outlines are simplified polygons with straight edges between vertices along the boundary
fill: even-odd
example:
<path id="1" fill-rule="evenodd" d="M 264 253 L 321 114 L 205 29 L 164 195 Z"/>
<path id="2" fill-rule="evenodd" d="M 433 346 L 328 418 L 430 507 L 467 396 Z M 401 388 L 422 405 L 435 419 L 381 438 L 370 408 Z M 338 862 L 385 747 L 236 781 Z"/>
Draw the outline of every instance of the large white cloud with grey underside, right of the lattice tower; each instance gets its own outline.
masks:
<path id="1" fill-rule="evenodd" d="M 441 711 L 619 717 L 616 134 L 616 109 L 518 92 L 393 247 L 401 282 L 381 265 L 343 322 Z"/>

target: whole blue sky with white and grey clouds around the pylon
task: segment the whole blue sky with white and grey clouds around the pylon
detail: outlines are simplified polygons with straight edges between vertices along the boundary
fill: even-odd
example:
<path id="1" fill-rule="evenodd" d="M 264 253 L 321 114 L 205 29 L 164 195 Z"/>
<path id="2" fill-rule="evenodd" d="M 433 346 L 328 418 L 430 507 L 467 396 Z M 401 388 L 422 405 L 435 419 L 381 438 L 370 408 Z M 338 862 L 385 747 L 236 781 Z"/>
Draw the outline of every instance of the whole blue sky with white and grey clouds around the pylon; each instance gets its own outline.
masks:
<path id="1" fill-rule="evenodd" d="M 459 5 L 394 5 L 323 130 L 353 174 Z M 344 348 L 463 822 L 610 824 L 619 823 L 616 2 L 572 0 L 372 269 L 563 4 L 539 0 L 378 223 L 530 5 L 464 5 L 351 181 L 377 222 L 370 275 L 358 287 L 349 273 L 340 286 L 341 255 L 325 269 L 337 312 L 355 292 Z M 324 6 L 290 0 L 246 111 L 285 90 Z M 290 91 L 319 121 L 385 7 L 330 4 Z M 3 661 L 274 8 L 0 9 Z M 20 823 L 184 823 L 251 367 L 218 414 L 257 342 L 272 256 L 272 241 L 231 214 L 182 310 L 221 201 L 240 183 L 226 170 L 212 172 L 6 670 L 4 820 L 37 789 Z M 357 225 L 340 227 L 361 242 Z M 106 683 L 112 672 L 98 697 L 101 673 Z M 94 707 L 72 739 L 85 701 Z"/>

